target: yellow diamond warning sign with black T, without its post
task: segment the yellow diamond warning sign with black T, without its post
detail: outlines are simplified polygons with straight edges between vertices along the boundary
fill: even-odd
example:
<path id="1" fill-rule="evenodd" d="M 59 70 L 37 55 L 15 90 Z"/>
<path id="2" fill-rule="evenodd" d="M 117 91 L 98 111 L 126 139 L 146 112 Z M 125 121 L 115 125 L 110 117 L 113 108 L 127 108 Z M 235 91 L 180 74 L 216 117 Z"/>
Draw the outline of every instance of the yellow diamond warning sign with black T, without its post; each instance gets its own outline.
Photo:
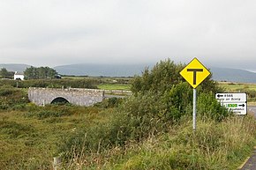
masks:
<path id="1" fill-rule="evenodd" d="M 211 73 L 207 68 L 200 63 L 197 58 L 187 64 L 184 70 L 179 73 L 193 88 L 196 88 L 204 79 L 206 79 Z"/>

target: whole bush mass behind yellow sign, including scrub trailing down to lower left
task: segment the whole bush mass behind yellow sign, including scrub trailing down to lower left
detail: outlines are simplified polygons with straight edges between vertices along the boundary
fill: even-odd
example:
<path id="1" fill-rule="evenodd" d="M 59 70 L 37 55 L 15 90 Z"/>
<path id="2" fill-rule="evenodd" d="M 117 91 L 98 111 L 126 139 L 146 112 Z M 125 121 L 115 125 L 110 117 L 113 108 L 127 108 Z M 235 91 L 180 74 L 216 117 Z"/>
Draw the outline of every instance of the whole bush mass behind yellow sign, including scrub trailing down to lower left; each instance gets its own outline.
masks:
<path id="1" fill-rule="evenodd" d="M 115 147 L 124 147 L 133 141 L 159 135 L 177 125 L 184 116 L 192 116 L 192 87 L 179 75 L 182 64 L 165 61 L 157 63 L 153 70 L 145 70 L 132 84 L 134 95 L 117 108 L 109 122 L 98 124 L 65 139 L 60 152 L 102 152 Z M 229 116 L 227 109 L 215 100 L 218 89 L 214 81 L 198 88 L 198 114 L 204 119 L 222 121 Z M 117 99 L 106 100 L 106 107 L 115 106 Z M 85 137 L 86 134 L 86 137 Z M 72 155 L 69 152 L 69 156 Z"/>

